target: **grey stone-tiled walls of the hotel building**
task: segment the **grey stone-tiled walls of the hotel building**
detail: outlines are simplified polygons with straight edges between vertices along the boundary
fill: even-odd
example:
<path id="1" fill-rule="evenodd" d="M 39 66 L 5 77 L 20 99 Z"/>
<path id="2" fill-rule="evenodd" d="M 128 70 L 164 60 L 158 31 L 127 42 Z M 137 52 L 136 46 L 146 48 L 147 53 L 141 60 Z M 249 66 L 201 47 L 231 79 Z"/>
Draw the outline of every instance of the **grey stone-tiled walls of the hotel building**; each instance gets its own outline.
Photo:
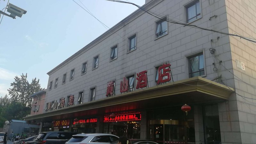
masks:
<path id="1" fill-rule="evenodd" d="M 185 6 L 194 0 L 146 0 L 143 8 L 186 23 Z M 191 25 L 256 38 L 256 1 L 254 0 L 199 0 L 202 17 Z M 217 17 L 213 17 L 213 16 Z M 212 18 L 211 18 L 212 17 Z M 211 18 L 211 20 L 209 20 Z M 235 88 L 229 100 L 218 103 L 222 144 L 256 143 L 256 44 L 235 36 L 191 28 L 168 22 L 168 34 L 156 38 L 158 18 L 141 10 L 133 12 L 113 28 L 86 45 L 56 68 L 48 72 L 52 89 L 47 89 L 45 103 L 84 91 L 83 103 L 90 101 L 90 88 L 96 87 L 95 100 L 106 96 L 108 81 L 116 80 L 116 95 L 120 82 L 143 70 L 148 70 L 149 87 L 156 86 L 156 66 L 171 63 L 172 80 L 189 78 L 188 58 L 198 52 L 204 54 L 206 79 L 221 76 L 221 84 Z M 136 34 L 136 50 L 128 52 L 129 37 Z M 117 59 L 110 60 L 111 47 L 117 44 Z M 210 48 L 214 48 L 212 54 Z M 99 55 L 98 68 L 93 69 L 93 58 Z M 244 63 L 245 71 L 237 68 L 236 60 Z M 82 65 L 87 62 L 85 74 Z M 215 66 L 213 65 L 215 64 Z M 213 68 L 216 67 L 217 71 Z M 70 71 L 75 69 L 74 79 Z M 67 73 L 66 83 L 62 76 Z M 233 75 L 234 74 L 234 75 Z M 54 88 L 55 79 L 58 86 Z M 135 83 L 136 87 L 136 83 Z M 195 107 L 196 143 L 204 143 L 202 109 Z M 46 111 L 45 111 L 46 112 Z M 199 140 L 200 139 L 200 140 Z"/>

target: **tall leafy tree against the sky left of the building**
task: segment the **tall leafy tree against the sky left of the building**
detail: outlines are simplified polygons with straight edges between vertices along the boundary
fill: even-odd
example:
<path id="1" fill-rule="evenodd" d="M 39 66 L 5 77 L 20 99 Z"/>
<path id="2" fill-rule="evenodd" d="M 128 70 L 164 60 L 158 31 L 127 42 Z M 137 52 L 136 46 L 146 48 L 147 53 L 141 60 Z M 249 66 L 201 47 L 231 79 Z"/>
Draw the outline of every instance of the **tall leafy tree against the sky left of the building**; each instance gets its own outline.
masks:
<path id="1" fill-rule="evenodd" d="M 39 84 L 39 79 L 32 79 L 32 82 L 29 84 L 26 75 L 22 75 L 20 77 L 15 76 L 14 82 L 11 83 L 12 88 L 8 89 L 9 95 L 11 96 L 11 100 L 14 102 L 20 102 L 21 104 L 25 104 L 31 108 L 32 98 L 29 97 L 31 94 L 41 91 L 42 88 Z"/>

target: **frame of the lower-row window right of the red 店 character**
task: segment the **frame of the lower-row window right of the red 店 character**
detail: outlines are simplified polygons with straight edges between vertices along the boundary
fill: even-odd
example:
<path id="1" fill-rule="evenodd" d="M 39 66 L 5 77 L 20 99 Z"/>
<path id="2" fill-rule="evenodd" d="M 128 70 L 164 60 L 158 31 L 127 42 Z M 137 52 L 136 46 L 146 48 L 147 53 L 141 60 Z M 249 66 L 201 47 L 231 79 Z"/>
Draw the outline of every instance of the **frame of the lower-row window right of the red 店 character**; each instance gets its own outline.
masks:
<path id="1" fill-rule="evenodd" d="M 190 75 L 190 73 L 189 73 L 189 71 L 190 71 L 189 70 L 190 69 L 189 68 L 189 66 L 190 66 L 189 59 L 192 58 L 192 57 L 199 56 L 200 54 L 203 55 L 203 59 L 204 59 L 204 75 L 202 75 L 200 77 L 205 77 L 206 76 L 205 52 L 204 52 L 204 49 L 203 49 L 203 50 L 200 50 L 200 51 L 197 51 L 197 52 L 193 52 L 193 53 L 188 54 L 188 55 L 185 56 L 185 58 L 186 58 L 186 63 L 185 63 L 186 64 L 186 76 L 187 76 L 187 78 L 192 78 L 192 77 L 189 76 Z"/>

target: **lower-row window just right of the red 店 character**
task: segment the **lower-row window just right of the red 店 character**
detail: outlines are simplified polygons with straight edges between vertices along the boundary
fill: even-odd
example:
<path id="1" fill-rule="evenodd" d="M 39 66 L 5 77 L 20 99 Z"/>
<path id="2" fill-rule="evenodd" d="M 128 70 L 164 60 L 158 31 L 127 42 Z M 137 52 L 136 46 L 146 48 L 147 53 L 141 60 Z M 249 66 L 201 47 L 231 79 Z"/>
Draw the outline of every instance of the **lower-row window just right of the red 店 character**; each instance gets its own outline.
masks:
<path id="1" fill-rule="evenodd" d="M 204 73 L 204 55 L 199 53 L 188 58 L 189 77 L 203 76 Z"/>

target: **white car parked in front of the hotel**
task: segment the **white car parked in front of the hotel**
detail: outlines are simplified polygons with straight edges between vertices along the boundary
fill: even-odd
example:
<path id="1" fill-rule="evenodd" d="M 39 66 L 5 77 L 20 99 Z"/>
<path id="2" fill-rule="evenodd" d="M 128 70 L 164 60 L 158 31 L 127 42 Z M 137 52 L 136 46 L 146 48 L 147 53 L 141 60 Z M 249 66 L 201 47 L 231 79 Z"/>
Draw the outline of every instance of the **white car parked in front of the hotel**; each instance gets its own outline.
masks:
<path id="1" fill-rule="evenodd" d="M 106 133 L 79 133 L 73 135 L 65 144 L 107 144 L 118 140 L 119 137 Z"/>

